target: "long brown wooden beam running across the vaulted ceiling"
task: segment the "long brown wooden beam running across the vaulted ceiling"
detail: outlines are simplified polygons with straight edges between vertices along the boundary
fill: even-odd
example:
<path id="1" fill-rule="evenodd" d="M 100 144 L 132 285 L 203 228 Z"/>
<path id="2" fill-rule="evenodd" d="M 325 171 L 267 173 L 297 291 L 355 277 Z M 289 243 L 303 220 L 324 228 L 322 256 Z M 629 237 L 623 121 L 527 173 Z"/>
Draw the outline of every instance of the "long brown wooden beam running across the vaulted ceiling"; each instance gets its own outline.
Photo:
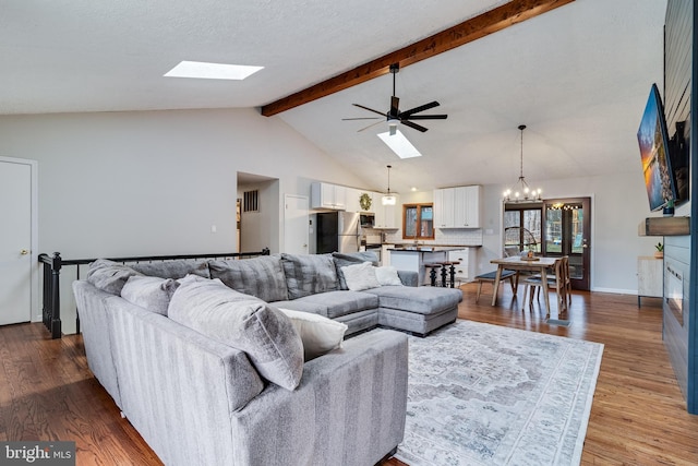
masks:
<path id="1" fill-rule="evenodd" d="M 265 117 L 272 117 L 386 74 L 393 63 L 399 63 L 400 68 L 405 68 L 573 1 L 575 0 L 513 0 L 425 39 L 267 104 L 261 108 L 261 112 Z"/>

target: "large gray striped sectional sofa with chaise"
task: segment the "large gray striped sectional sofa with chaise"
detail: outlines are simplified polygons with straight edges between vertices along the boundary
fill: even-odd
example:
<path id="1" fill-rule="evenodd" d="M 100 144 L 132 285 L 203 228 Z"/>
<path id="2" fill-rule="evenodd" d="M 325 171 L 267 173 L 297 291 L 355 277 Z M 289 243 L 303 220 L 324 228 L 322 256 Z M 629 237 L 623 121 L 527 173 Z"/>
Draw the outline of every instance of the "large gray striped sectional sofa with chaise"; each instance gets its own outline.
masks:
<path id="1" fill-rule="evenodd" d="M 405 286 L 416 284 L 416 274 L 405 272 L 402 285 L 348 289 L 342 267 L 366 259 L 375 261 L 364 253 L 101 261 L 73 284 L 89 368 L 165 464 L 375 464 L 402 440 L 408 367 L 406 335 L 374 327 L 425 335 L 455 321 L 462 296 Z M 157 299 L 121 296 L 141 275 L 161 279 Z M 206 289 L 227 298 L 215 300 Z M 303 361 L 301 340 L 279 308 L 341 322 L 351 337 Z M 191 323 L 210 315 L 214 322 Z M 286 346 L 291 356 L 268 360 L 246 343 L 221 338 L 230 322 L 242 325 L 239 335 L 270 335 L 272 344 L 260 345 L 264 351 Z M 260 322 L 261 332 L 250 326 Z M 292 384 L 274 371 L 293 372 Z"/>

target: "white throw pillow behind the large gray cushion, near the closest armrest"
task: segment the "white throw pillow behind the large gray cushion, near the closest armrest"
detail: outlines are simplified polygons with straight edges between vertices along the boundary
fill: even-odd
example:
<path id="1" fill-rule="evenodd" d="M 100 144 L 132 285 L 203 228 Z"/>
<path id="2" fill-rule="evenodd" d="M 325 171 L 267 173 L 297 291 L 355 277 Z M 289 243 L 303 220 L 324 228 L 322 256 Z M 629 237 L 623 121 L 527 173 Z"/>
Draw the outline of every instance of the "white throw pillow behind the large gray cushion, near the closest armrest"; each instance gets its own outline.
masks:
<path id="1" fill-rule="evenodd" d="M 341 346 L 347 332 L 347 324 L 333 321 L 324 315 L 311 312 L 293 311 L 279 308 L 293 324 L 303 342 L 303 354 L 306 361 L 332 351 Z"/>

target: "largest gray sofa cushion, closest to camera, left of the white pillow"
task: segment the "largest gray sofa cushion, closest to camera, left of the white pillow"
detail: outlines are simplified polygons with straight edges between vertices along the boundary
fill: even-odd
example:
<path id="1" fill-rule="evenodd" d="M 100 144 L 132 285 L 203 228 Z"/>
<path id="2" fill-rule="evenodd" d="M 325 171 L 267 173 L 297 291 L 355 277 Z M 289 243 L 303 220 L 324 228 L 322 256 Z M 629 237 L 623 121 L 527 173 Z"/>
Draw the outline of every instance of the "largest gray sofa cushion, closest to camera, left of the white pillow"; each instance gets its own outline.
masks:
<path id="1" fill-rule="evenodd" d="M 258 298 L 219 280 L 185 277 L 168 315 L 213 339 L 243 350 L 260 375 L 293 390 L 303 374 L 303 344 L 291 321 Z"/>

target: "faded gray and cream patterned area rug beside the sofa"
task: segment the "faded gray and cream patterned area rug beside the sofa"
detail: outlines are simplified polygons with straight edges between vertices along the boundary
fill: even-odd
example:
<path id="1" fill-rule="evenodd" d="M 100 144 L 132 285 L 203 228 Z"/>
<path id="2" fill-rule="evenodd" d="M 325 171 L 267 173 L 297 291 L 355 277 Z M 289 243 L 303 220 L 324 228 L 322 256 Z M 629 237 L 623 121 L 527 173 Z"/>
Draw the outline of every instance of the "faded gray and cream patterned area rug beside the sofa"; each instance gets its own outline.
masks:
<path id="1" fill-rule="evenodd" d="M 579 464 L 603 345 L 459 320 L 409 346 L 398 459 Z"/>

